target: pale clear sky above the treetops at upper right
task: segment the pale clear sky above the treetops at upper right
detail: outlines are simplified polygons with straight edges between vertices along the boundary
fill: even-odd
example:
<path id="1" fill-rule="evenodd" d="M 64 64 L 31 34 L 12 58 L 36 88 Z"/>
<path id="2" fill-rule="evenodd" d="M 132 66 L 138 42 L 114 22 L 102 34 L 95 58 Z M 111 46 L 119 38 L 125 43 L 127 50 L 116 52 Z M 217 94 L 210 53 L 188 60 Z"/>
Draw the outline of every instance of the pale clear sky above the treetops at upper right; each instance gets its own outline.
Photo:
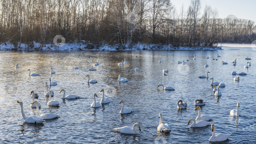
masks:
<path id="1" fill-rule="evenodd" d="M 184 9 L 188 9 L 190 0 L 171 0 L 171 3 L 180 11 L 182 3 Z M 205 5 L 217 9 L 219 18 L 235 15 L 237 18 L 252 20 L 256 23 L 256 0 L 201 0 L 201 14 Z"/>

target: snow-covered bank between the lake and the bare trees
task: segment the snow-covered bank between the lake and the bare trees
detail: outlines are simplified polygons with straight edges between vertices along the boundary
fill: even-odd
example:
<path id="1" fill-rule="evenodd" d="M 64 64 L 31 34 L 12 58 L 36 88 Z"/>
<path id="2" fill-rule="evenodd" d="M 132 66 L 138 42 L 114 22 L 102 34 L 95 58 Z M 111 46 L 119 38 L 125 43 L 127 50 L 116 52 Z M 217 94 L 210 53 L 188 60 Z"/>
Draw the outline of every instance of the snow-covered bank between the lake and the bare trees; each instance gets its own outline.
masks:
<path id="1" fill-rule="evenodd" d="M 59 46 L 57 46 L 59 45 Z M 132 50 L 222 50 L 221 47 L 172 47 L 171 45 L 156 45 L 138 43 L 133 46 L 120 47 L 118 45 L 94 45 L 92 43 L 65 43 L 65 44 L 47 44 L 46 47 L 41 47 L 39 43 L 34 42 L 33 47 L 26 44 L 21 44 L 21 48 L 16 48 L 11 43 L 2 43 L 0 50 L 21 50 L 21 51 L 132 51 Z M 17 46 L 16 46 L 17 47 Z"/>

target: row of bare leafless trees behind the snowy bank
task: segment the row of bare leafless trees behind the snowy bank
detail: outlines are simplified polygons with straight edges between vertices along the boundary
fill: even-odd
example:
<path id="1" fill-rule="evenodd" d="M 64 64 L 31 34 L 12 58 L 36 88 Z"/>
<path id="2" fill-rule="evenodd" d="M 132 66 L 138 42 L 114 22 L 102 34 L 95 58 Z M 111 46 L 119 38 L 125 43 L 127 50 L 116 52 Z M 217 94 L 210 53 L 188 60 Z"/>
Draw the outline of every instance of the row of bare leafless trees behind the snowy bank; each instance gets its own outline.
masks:
<path id="1" fill-rule="evenodd" d="M 0 44 L 33 42 L 132 47 L 137 43 L 178 46 L 216 46 L 251 43 L 254 21 L 218 18 L 218 11 L 191 0 L 179 10 L 170 0 L 1 0 Z"/>

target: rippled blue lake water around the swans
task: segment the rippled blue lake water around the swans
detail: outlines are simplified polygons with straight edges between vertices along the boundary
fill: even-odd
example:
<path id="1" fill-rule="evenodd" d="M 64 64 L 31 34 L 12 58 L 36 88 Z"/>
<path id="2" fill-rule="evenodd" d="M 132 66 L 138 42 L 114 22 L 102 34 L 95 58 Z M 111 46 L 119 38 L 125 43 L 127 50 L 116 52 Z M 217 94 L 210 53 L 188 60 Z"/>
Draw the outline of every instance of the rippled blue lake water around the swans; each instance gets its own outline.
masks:
<path id="1" fill-rule="evenodd" d="M 206 105 L 201 107 L 201 114 L 212 116 L 210 124 L 215 124 L 216 132 L 231 134 L 223 144 L 256 143 L 255 132 L 255 76 L 256 51 L 252 48 L 223 47 L 221 51 L 0 51 L 0 143 L 211 143 L 210 125 L 203 128 L 189 128 L 188 119 L 195 118 L 194 100 L 204 99 Z M 165 56 L 161 56 L 165 54 Z M 217 57 L 217 54 L 221 57 Z M 196 60 L 193 56 L 196 55 Z M 209 59 L 206 57 L 209 56 Z M 245 60 L 246 57 L 252 60 Z M 127 64 L 117 63 L 126 59 Z M 161 58 L 162 63 L 158 63 Z M 218 60 L 212 60 L 217 58 Z M 237 59 L 237 65 L 231 61 Z M 100 65 L 93 66 L 98 60 Z M 178 61 L 186 61 L 185 65 Z M 205 61 L 209 67 L 204 68 Z M 228 62 L 222 65 L 222 61 Z M 251 67 L 244 68 L 247 62 Z M 75 63 L 79 69 L 74 69 Z M 15 69 L 19 64 L 20 69 Z M 56 74 L 51 75 L 51 67 Z M 96 71 L 88 71 L 95 68 Z M 139 68 L 139 71 L 135 71 Z M 162 73 L 168 68 L 167 76 Z M 27 69 L 39 76 L 28 76 Z M 200 79 L 198 75 L 206 75 Z M 232 71 L 245 72 L 240 75 L 240 82 L 233 81 L 237 75 Z M 117 73 L 129 82 L 118 83 Z M 88 85 L 88 78 L 98 80 Z M 214 81 L 226 84 L 221 88 L 222 96 L 216 97 L 210 86 Z M 49 78 L 58 83 L 51 86 L 54 91 L 52 100 L 58 100 L 59 107 L 48 107 L 48 98 L 44 96 L 45 82 Z M 172 86 L 175 91 L 162 91 L 158 84 Z M 63 100 L 66 94 L 76 94 L 81 99 Z M 110 98 L 110 103 L 98 108 L 90 107 L 94 101 L 93 93 L 101 100 L 101 89 Z M 43 124 L 23 123 L 22 101 L 27 116 L 36 114 L 30 104 L 30 91 L 39 94 L 36 99 L 41 104 L 40 113 L 52 112 L 60 115 L 57 119 L 46 120 Z M 130 114 L 119 114 L 120 101 L 125 107 L 132 108 Z M 177 101 L 187 102 L 185 110 L 177 109 Z M 240 103 L 241 117 L 231 117 L 230 110 Z M 163 123 L 171 127 L 170 133 L 157 131 L 158 114 L 162 113 Z M 113 129 L 123 126 L 141 124 L 140 135 L 128 135 Z M 137 128 L 138 129 L 138 128 Z"/>

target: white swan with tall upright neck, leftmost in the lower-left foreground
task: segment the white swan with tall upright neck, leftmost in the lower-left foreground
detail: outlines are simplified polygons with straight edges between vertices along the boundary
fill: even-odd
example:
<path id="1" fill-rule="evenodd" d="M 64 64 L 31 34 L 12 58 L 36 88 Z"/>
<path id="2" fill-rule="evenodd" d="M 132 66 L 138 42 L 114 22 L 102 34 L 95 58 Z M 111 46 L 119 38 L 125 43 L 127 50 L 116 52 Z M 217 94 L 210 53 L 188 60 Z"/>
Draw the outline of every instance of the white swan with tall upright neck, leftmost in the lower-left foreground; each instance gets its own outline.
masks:
<path id="1" fill-rule="evenodd" d="M 19 102 L 19 101 L 17 101 L 17 103 L 19 103 L 21 105 L 21 115 L 22 115 L 23 121 L 25 123 L 43 123 L 43 122 L 45 122 L 41 117 L 37 117 L 35 115 L 27 117 L 23 110 L 23 103 Z M 38 112 L 39 112 L 39 110 L 38 110 Z"/>

